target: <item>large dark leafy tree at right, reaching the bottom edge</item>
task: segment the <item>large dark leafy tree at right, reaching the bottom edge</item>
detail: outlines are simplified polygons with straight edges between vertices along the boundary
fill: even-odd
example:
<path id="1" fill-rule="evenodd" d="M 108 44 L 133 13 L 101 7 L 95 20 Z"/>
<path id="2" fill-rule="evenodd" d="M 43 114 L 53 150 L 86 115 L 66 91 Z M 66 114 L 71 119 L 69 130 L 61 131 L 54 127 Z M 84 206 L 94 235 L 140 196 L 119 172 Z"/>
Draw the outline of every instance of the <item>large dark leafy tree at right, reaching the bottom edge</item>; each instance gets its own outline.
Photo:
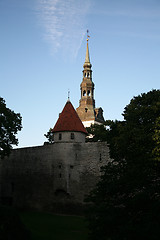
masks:
<path id="1" fill-rule="evenodd" d="M 157 146 L 154 135 L 160 91 L 134 97 L 123 116 L 124 121 L 107 122 L 107 141 L 114 160 L 103 168 L 87 199 L 90 239 L 158 240 L 160 162 L 153 150 Z"/>

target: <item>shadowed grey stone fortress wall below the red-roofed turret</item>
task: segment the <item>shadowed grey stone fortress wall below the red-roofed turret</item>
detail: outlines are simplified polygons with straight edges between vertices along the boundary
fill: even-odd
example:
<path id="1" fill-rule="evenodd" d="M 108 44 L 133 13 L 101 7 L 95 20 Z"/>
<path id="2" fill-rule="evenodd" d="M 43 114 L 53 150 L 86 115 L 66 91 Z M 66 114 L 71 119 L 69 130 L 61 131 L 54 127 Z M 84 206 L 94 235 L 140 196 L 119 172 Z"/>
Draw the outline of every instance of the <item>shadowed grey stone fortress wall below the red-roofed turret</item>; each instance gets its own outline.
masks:
<path id="1" fill-rule="evenodd" d="M 14 149 L 0 160 L 1 203 L 47 211 L 79 208 L 108 161 L 105 142 Z"/>

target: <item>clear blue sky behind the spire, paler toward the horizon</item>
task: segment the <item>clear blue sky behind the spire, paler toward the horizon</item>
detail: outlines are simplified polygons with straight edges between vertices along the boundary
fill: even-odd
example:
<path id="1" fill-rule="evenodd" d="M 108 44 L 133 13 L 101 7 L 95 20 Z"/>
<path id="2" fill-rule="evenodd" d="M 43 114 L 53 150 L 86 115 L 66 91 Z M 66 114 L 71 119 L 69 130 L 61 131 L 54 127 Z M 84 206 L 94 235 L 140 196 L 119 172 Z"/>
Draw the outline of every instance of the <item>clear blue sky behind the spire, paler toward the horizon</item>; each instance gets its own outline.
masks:
<path id="1" fill-rule="evenodd" d="M 96 107 L 122 120 L 133 96 L 159 89 L 159 0 L 1 0 L 0 96 L 19 112 L 19 147 L 42 145 L 66 101 L 75 108 L 86 52 Z"/>

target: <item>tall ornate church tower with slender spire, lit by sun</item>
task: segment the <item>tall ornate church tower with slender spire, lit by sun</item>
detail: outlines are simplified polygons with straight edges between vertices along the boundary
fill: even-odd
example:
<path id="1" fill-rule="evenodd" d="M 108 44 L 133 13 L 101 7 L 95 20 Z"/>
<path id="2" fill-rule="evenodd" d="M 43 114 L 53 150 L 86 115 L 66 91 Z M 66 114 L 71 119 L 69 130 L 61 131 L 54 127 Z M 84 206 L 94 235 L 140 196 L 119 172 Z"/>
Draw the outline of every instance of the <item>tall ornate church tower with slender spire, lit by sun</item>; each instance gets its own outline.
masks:
<path id="1" fill-rule="evenodd" d="M 81 99 L 79 101 L 79 107 L 76 109 L 79 118 L 85 127 L 90 127 L 91 124 L 104 123 L 102 108 L 95 108 L 94 83 L 92 82 L 92 64 L 90 63 L 89 57 L 88 38 L 89 36 L 87 35 L 86 57 L 83 65 L 83 80 L 80 85 Z"/>

